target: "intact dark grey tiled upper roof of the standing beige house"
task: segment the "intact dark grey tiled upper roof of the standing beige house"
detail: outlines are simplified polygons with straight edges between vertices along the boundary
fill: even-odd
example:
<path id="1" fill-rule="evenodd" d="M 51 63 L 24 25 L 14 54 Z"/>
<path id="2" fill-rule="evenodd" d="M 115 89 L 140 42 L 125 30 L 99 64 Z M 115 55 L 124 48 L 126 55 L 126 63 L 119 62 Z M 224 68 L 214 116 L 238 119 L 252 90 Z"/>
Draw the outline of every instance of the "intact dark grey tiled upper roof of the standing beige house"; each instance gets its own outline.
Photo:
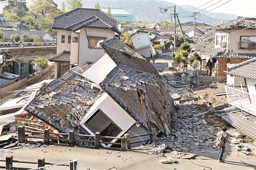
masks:
<path id="1" fill-rule="evenodd" d="M 90 8 L 76 8 L 54 18 L 52 28 L 76 31 L 81 27 L 95 27 L 118 31 L 118 21 L 102 12 Z"/>

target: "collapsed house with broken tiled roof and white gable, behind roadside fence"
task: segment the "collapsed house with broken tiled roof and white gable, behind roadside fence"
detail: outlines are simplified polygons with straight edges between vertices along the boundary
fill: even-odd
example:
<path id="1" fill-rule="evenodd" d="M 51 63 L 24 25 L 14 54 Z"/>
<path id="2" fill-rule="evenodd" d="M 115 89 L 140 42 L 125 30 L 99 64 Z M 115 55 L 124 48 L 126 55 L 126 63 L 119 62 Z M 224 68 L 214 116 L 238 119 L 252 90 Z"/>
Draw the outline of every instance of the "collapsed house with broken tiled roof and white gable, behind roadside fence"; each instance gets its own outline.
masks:
<path id="1" fill-rule="evenodd" d="M 152 128 L 170 134 L 173 100 L 154 66 L 118 38 L 101 45 L 105 53 L 97 61 L 76 66 L 51 82 L 26 111 L 60 132 L 138 135 L 131 139 L 137 141 L 132 147 L 148 141 L 150 135 L 145 134 Z"/>

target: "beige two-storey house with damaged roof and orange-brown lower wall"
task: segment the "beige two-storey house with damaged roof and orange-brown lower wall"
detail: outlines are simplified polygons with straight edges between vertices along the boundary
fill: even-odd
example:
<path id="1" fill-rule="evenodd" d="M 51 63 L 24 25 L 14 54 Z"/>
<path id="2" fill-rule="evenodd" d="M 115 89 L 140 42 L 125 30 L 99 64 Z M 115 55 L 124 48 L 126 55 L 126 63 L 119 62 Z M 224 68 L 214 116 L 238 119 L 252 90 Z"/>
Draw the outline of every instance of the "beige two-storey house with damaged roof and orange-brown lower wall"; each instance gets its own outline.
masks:
<path id="1" fill-rule="evenodd" d="M 205 41 L 193 48 L 200 51 L 207 75 L 225 77 L 228 66 L 256 58 L 256 18 L 237 18 L 220 24 L 202 40 Z"/>

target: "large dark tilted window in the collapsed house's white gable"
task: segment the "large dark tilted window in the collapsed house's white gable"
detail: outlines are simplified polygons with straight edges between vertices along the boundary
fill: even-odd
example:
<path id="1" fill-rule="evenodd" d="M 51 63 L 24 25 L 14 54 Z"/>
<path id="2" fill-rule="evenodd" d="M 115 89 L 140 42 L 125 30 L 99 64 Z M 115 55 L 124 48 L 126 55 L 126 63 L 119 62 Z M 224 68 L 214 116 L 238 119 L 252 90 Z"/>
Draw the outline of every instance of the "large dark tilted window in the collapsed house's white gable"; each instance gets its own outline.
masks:
<path id="1" fill-rule="evenodd" d="M 100 132 L 100 135 L 117 136 L 122 130 L 111 121 L 100 109 L 87 120 L 84 125 L 88 127 L 93 134 Z M 113 139 L 104 139 L 104 141 L 112 141 Z"/>

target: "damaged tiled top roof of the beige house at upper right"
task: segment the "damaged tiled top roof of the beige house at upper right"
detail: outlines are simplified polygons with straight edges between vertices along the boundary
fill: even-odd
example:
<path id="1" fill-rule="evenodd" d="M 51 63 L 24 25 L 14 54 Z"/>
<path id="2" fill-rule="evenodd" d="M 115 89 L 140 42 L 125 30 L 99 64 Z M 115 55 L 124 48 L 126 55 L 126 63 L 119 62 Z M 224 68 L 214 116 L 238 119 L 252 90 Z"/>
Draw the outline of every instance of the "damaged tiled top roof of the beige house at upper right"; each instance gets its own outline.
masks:
<path id="1" fill-rule="evenodd" d="M 256 18 L 239 17 L 216 26 L 216 29 L 256 29 Z"/>

